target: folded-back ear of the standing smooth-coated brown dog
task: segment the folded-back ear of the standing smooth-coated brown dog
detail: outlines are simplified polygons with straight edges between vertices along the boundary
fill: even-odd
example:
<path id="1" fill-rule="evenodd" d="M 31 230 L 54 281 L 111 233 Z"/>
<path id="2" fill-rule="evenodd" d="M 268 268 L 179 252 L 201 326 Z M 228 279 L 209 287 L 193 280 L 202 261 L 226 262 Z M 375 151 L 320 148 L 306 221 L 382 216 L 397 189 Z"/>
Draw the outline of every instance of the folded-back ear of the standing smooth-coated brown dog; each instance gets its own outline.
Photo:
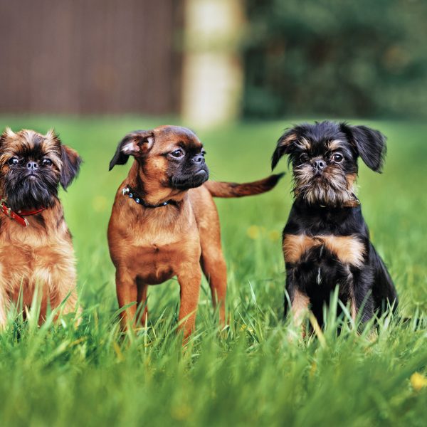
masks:
<path id="1" fill-rule="evenodd" d="M 152 130 L 135 130 L 127 134 L 117 145 L 117 150 L 110 162 L 110 170 L 116 164 L 125 164 L 129 156 L 142 157 L 154 144 Z"/>

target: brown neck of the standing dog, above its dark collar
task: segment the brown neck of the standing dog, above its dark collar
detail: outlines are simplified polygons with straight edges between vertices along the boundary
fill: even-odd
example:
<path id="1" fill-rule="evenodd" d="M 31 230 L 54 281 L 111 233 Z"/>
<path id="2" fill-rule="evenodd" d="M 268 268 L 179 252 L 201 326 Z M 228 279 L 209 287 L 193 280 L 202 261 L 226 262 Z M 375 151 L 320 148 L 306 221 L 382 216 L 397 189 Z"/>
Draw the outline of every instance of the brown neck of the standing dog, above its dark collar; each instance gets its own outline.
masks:
<path id="1" fill-rule="evenodd" d="M 187 191 L 174 190 L 163 186 L 159 181 L 152 182 L 144 174 L 144 166 L 135 160 L 127 176 L 127 184 L 135 189 L 144 202 L 149 205 L 159 205 L 173 200 L 176 203 L 184 201 Z"/>

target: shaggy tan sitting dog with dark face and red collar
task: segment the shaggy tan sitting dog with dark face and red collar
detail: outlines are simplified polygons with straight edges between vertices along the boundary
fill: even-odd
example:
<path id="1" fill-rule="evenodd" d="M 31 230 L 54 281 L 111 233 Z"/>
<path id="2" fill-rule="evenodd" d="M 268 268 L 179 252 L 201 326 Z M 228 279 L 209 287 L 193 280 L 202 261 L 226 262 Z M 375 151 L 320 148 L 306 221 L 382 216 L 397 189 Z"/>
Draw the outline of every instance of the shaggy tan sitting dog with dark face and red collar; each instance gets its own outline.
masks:
<path id="1" fill-rule="evenodd" d="M 40 320 L 65 297 L 63 312 L 75 310 L 75 259 L 58 185 L 70 185 L 80 162 L 53 130 L 7 128 L 0 137 L 0 327 L 11 302 L 30 307 L 36 288 Z"/>

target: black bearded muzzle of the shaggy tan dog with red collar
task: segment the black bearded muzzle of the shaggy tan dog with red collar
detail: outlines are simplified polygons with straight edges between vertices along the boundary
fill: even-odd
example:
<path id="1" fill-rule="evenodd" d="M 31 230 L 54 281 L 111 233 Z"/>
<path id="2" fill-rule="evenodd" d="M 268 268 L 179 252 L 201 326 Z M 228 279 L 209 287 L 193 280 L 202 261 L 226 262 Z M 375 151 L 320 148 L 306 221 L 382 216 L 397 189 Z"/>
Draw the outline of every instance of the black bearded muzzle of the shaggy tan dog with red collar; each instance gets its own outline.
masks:
<path id="1" fill-rule="evenodd" d="M 12 211 L 51 207 L 58 198 L 58 177 L 54 172 L 9 172 L 4 181 L 4 196 Z"/>

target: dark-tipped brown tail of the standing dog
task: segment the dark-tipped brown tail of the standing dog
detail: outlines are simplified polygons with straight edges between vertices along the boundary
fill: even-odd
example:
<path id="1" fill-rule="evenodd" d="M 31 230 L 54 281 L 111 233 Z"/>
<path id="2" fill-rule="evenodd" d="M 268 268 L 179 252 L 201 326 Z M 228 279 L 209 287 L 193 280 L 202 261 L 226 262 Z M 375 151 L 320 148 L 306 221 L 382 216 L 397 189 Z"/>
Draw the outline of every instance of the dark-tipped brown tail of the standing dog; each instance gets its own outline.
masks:
<path id="1" fill-rule="evenodd" d="M 236 182 L 207 181 L 204 186 L 214 197 L 243 197 L 270 191 L 284 174 L 270 175 L 259 181 L 237 184 Z"/>

